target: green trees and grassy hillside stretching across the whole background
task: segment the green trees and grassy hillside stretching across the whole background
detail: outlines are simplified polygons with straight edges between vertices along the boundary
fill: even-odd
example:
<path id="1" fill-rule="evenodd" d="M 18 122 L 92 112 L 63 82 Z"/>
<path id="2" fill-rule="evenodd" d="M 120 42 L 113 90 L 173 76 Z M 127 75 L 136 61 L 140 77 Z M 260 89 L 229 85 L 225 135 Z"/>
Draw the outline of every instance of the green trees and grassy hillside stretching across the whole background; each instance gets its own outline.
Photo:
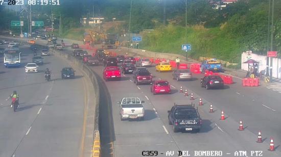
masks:
<path id="1" fill-rule="evenodd" d="M 165 5 L 166 1 L 166 5 Z M 219 0 L 213 0 L 219 1 Z M 105 21 L 126 21 L 123 30 L 129 31 L 130 7 L 132 12 L 130 32 L 140 33 L 144 29 L 155 31 L 143 35 L 141 46 L 165 53 L 183 53 L 185 43 L 185 1 L 184 0 L 76 0 L 61 1 L 60 6 L 34 6 L 36 19 L 43 19 L 50 25 L 51 12 L 61 15 L 63 37 L 81 39 L 83 29 L 80 18 L 103 16 Z M 191 56 L 216 57 L 229 62 L 239 62 L 241 51 L 253 50 L 265 54 L 268 45 L 269 0 L 239 0 L 223 10 L 214 10 L 208 0 L 187 0 L 188 43 L 192 44 Z M 165 7 L 166 6 L 166 7 Z M 166 8 L 166 20 L 163 18 Z M 0 29 L 15 30 L 10 27 L 11 18 L 18 15 L 0 7 Z M 26 20 L 26 19 L 25 19 Z M 163 21 L 165 20 L 165 21 Z M 166 22 L 166 25 L 163 23 Z M 169 24 L 170 23 L 170 24 Z M 24 28 L 24 30 L 27 28 Z M 55 20 L 58 29 L 58 19 Z M 15 30 L 18 31 L 18 30 Z M 113 30 L 109 30 L 113 31 Z M 281 1 L 275 0 L 273 50 L 281 50 Z"/>

